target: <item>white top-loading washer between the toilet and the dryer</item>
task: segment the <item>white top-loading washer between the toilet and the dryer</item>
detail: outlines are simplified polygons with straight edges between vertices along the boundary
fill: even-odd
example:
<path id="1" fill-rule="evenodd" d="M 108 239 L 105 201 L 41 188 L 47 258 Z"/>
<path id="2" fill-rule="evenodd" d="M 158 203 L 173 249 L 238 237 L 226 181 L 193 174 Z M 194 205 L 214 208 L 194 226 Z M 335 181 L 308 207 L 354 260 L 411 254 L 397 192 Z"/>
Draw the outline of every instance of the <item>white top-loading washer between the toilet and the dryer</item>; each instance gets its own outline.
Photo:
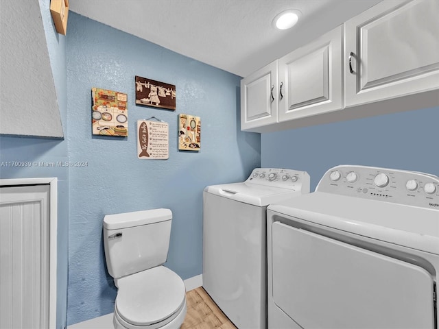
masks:
<path id="1" fill-rule="evenodd" d="M 309 175 L 254 169 L 203 191 L 203 287 L 239 329 L 267 326 L 266 209 L 309 193 Z"/>

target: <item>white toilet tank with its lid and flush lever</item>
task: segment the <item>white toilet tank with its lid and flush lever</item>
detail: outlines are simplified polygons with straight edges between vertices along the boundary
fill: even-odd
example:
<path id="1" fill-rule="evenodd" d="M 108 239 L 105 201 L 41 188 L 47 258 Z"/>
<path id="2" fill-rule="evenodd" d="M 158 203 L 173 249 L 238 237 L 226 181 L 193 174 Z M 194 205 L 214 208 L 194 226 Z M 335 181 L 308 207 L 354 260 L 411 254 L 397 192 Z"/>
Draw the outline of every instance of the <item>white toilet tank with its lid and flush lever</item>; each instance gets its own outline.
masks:
<path id="1" fill-rule="evenodd" d="M 104 217 L 108 273 L 121 278 L 166 262 L 172 212 L 152 209 Z"/>

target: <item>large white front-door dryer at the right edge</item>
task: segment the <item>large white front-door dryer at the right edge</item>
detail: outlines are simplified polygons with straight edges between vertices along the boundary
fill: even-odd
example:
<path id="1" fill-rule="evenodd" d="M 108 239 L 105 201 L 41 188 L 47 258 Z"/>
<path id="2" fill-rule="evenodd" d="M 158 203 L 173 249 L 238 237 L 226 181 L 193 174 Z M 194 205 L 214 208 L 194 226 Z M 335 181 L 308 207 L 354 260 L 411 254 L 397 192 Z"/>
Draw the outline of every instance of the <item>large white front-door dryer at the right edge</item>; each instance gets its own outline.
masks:
<path id="1" fill-rule="evenodd" d="M 342 165 L 267 216 L 268 328 L 439 328 L 435 175 Z"/>

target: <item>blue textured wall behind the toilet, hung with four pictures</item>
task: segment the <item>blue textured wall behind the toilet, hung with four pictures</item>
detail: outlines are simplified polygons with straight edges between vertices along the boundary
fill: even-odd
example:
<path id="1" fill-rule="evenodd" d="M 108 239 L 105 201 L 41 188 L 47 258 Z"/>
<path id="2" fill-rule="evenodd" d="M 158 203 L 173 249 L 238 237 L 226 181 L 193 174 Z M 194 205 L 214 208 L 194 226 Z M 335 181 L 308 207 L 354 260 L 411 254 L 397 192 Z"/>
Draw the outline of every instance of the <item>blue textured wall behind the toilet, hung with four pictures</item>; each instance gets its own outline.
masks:
<path id="1" fill-rule="evenodd" d="M 68 323 L 110 313 L 116 296 L 105 266 L 104 215 L 150 208 L 174 214 L 166 266 L 183 279 L 202 273 L 202 190 L 247 178 L 260 164 L 259 134 L 239 130 L 240 77 L 107 25 L 69 14 Z M 176 85 L 177 110 L 136 106 L 134 76 Z M 128 138 L 91 135 L 91 88 L 128 94 Z M 177 150 L 178 114 L 201 117 L 201 151 Z M 169 123 L 169 160 L 139 160 L 136 121 Z"/>

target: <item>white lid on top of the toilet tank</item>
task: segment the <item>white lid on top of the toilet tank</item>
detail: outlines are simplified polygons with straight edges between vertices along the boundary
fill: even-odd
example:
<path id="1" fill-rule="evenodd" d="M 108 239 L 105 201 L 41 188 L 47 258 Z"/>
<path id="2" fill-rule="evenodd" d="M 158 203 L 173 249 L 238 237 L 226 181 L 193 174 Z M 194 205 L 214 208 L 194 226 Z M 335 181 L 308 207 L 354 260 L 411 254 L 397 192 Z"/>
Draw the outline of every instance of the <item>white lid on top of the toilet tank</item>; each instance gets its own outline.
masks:
<path id="1" fill-rule="evenodd" d="M 107 230 L 120 230 L 121 228 L 132 228 L 169 221 L 170 219 L 172 219 L 172 212 L 165 208 L 123 212 L 121 214 L 105 215 L 104 228 Z"/>

